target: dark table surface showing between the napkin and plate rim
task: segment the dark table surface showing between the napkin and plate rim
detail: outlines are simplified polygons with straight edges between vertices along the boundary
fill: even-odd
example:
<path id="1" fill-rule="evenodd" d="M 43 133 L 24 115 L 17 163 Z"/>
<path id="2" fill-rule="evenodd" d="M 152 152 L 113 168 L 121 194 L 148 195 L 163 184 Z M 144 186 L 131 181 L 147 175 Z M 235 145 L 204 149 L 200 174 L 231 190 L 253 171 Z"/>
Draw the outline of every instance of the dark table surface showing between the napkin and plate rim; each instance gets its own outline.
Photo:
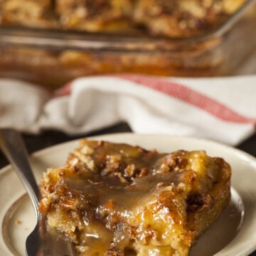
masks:
<path id="1" fill-rule="evenodd" d="M 68 142 L 73 139 L 115 132 L 132 132 L 132 130 L 126 123 L 119 123 L 106 129 L 102 129 L 96 132 L 90 132 L 87 134 L 80 134 L 79 136 L 68 136 L 66 134 L 63 134 L 62 132 L 45 131 L 41 132 L 41 134 L 39 135 L 23 134 L 23 139 L 25 140 L 26 146 L 28 148 L 28 153 L 31 154 L 39 149 L 53 146 L 55 144 L 60 144 L 62 142 Z M 237 148 L 242 149 L 243 151 L 256 157 L 256 134 L 247 139 L 245 142 L 242 142 L 240 145 L 237 146 Z M 6 166 L 6 164 L 8 164 L 8 161 L 0 152 L 0 168 Z M 256 256 L 256 251 L 253 252 L 250 256 Z"/>

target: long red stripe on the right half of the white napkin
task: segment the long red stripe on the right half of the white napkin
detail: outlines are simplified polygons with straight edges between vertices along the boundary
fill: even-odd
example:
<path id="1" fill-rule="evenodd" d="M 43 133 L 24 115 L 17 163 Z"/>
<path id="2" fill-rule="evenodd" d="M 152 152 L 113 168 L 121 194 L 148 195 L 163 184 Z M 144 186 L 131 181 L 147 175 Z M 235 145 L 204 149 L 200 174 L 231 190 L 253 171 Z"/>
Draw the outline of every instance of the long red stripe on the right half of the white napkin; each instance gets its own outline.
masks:
<path id="1" fill-rule="evenodd" d="M 114 75 L 114 77 L 137 82 L 139 85 L 145 85 L 146 87 L 150 87 L 151 89 L 159 92 L 164 92 L 166 95 L 199 107 L 223 121 L 240 124 L 254 124 L 256 126 L 256 119 L 250 119 L 242 116 L 242 114 L 231 110 L 230 107 L 218 102 L 217 100 L 213 100 L 200 92 L 196 92 L 185 85 L 152 78 L 146 75 Z"/>

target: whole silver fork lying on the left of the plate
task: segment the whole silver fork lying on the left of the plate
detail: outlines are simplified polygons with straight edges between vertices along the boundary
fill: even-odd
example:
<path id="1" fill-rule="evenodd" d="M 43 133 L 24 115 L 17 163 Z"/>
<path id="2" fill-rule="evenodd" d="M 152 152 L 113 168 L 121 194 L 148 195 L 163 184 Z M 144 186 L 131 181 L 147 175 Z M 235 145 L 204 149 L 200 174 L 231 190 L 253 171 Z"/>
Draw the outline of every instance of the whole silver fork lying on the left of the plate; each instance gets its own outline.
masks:
<path id="1" fill-rule="evenodd" d="M 14 129 L 0 129 L 0 147 L 16 171 L 36 213 L 36 227 L 26 238 L 27 256 L 71 256 L 73 245 L 58 232 L 47 230 L 46 220 L 38 212 L 39 189 L 28 162 L 28 153 L 21 135 Z"/>

